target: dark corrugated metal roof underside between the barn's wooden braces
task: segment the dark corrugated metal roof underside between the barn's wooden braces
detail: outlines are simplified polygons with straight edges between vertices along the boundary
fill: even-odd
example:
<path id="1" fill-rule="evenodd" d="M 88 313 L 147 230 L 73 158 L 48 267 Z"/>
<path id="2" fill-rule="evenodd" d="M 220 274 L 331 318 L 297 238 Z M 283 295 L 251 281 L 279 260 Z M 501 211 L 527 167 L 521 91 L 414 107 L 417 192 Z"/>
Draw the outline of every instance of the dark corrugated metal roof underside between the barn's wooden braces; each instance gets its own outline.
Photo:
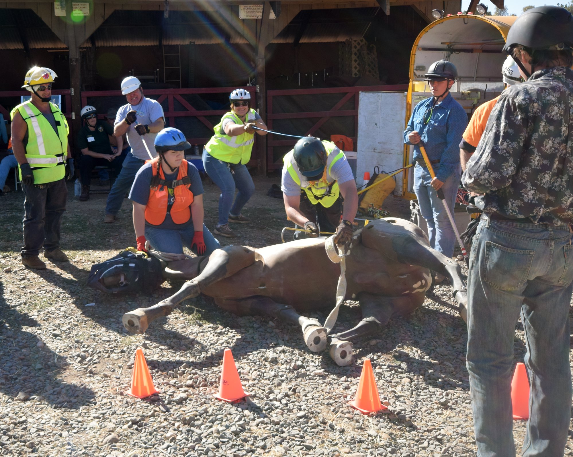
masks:
<path id="1" fill-rule="evenodd" d="M 370 25 L 372 12 L 376 9 L 360 10 L 362 10 L 360 14 L 355 10 L 350 12 L 345 10 L 346 13 L 341 10 L 312 10 L 307 13 L 310 17 L 306 18 L 299 13 L 272 42 L 292 43 L 303 28 L 301 43 L 362 38 Z M 23 49 L 19 30 L 28 41 L 30 49 L 66 48 L 65 44 L 32 10 L 3 11 L 8 13 L 0 21 L 0 49 Z M 210 19 L 195 14 L 193 11 L 174 11 L 173 13 L 170 18 L 164 19 L 163 11 L 114 11 L 93 34 L 93 42 L 97 47 L 158 46 L 160 42 L 164 45 L 185 45 L 189 42 L 195 44 L 219 44 L 225 41 L 230 44 L 245 44 L 247 42 L 237 32 L 233 31 L 229 36 L 220 25 L 210 22 Z M 18 23 L 26 26 L 18 29 L 14 25 Z M 91 40 L 85 41 L 82 46 L 91 46 Z"/>

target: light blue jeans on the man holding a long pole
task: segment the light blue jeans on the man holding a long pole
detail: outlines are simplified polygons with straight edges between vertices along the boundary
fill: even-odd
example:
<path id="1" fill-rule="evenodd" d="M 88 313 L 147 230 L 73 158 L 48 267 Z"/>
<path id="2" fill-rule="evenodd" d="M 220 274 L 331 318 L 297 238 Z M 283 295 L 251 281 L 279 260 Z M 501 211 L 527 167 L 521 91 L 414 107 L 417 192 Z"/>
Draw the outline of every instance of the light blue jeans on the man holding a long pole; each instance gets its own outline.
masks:
<path id="1" fill-rule="evenodd" d="M 439 165 L 435 165 L 434 172 L 437 173 L 438 170 Z M 461 168 L 459 171 L 461 171 Z M 422 217 L 425 218 L 428 226 L 430 247 L 441 252 L 446 257 L 452 257 L 454 254 L 456 235 L 448 219 L 444 204 L 439 200 L 434 188 L 430 186 L 430 181 L 430 172 L 426 168 L 416 165 L 414 168 L 414 193 L 416 194 L 416 198 L 418 198 Z M 442 186 L 444 196 L 446 197 L 445 201 L 448 202 L 452 216 L 454 214 L 454 205 L 456 204 L 459 186 L 460 173 L 451 175 Z"/>

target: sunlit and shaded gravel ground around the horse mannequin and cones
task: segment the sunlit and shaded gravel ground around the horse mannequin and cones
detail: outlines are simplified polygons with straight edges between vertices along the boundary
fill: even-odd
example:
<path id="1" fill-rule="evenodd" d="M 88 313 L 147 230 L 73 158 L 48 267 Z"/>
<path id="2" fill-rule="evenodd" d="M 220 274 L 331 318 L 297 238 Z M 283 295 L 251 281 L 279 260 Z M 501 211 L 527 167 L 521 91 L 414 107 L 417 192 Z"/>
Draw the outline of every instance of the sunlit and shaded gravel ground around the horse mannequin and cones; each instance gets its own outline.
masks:
<path id="1" fill-rule="evenodd" d="M 282 201 L 265 195 L 278 179 L 255 181 L 256 195 L 244 211 L 254 222 L 236 227 L 239 243 L 280 243 Z M 212 228 L 216 188 L 207 181 L 205 190 Z M 0 455 L 476 455 L 466 326 L 452 309 L 447 283 L 413 315 L 393 319 L 375 339 L 356 344 L 356 363 L 349 367 L 308 351 L 293 327 L 237 318 L 203 296 L 154 322 L 145 335 L 129 335 L 121 315 L 158 302 L 180 284 L 165 283 L 152 296 L 86 288 L 93 263 L 135 240 L 127 201 L 121 221 L 108 225 L 101 223 L 105 195 L 82 203 L 72 185 L 70 191 L 62 247 L 71 261 L 49 263 L 43 272 L 19 263 L 23 194 L 0 199 Z M 406 201 L 390 198 L 384 206 L 392 216 L 409 216 Z M 358 304 L 346 304 L 335 331 L 360 319 Z M 146 400 L 125 395 L 137 347 L 160 390 Z M 213 397 L 226 347 L 250 393 L 240 403 Z M 518 327 L 516 361 L 523 361 L 524 351 Z M 347 404 L 364 358 L 388 405 L 372 416 Z M 514 432 L 519 451 L 524 423 L 516 421 Z M 573 455 L 571 442 L 566 455 Z"/>

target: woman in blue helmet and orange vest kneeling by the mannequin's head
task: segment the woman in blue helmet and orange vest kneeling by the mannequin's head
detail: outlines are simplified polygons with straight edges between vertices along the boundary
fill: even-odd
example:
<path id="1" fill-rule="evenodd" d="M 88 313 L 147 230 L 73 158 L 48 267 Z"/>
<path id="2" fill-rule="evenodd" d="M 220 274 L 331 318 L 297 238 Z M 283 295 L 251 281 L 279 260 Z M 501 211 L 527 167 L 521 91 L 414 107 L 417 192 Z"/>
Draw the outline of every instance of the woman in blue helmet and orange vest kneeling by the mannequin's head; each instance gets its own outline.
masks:
<path id="1" fill-rule="evenodd" d="M 164 128 L 155 137 L 158 157 L 135 176 L 129 198 L 134 205 L 138 251 L 150 241 L 156 251 L 210 255 L 219 247 L 203 224 L 203 185 L 199 171 L 185 160 L 191 145 L 176 128 Z"/>

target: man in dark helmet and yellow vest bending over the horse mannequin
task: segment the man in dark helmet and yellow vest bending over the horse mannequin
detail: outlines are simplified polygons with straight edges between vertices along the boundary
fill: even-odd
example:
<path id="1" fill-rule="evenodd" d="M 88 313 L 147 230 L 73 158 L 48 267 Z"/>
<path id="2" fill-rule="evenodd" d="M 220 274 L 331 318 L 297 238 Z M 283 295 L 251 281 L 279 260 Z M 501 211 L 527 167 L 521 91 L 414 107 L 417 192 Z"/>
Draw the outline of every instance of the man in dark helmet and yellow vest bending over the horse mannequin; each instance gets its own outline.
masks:
<path id="1" fill-rule="evenodd" d="M 320 227 L 335 232 L 335 243 L 348 243 L 358 193 L 344 153 L 332 142 L 306 136 L 283 161 L 281 190 L 289 219 L 311 237 L 319 235 Z"/>

